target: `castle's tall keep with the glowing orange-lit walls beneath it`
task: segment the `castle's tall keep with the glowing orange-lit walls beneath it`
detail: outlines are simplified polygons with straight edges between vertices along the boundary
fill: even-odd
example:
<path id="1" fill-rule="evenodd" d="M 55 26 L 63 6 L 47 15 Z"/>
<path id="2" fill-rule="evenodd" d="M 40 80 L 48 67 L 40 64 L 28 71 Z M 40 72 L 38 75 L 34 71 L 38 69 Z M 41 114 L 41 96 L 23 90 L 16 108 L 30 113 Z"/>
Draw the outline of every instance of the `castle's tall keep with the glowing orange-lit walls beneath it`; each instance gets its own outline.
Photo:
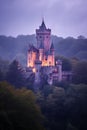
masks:
<path id="1" fill-rule="evenodd" d="M 41 66 L 55 66 L 54 45 L 51 43 L 51 29 L 47 29 L 42 21 L 36 29 L 37 47 L 29 46 L 27 67 L 35 68 L 35 62 L 41 61 Z"/>

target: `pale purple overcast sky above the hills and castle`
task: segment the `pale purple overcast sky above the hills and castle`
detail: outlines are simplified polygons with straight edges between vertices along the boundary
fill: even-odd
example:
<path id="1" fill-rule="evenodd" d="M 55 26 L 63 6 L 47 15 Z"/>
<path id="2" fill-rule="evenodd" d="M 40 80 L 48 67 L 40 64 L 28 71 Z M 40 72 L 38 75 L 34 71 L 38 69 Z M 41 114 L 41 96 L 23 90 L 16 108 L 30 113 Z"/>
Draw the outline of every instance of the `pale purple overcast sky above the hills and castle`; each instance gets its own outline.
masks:
<path id="1" fill-rule="evenodd" d="M 30 35 L 42 18 L 59 37 L 87 37 L 87 0 L 0 0 L 0 35 Z"/>

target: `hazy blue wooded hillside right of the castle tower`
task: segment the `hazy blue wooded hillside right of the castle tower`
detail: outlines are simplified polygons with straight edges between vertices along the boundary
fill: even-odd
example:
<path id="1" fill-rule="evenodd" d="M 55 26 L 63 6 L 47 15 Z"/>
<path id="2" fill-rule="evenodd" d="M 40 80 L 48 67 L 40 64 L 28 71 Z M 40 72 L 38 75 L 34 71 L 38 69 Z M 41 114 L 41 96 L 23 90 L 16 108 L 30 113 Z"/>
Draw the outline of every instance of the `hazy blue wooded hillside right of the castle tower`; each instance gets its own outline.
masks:
<path id="1" fill-rule="evenodd" d="M 55 45 L 55 44 L 54 44 Z M 80 60 L 87 60 L 87 39 L 85 38 L 71 38 L 62 39 L 55 45 L 56 54 L 63 55 L 65 57 L 76 57 Z M 84 54 L 85 52 L 85 54 Z"/>

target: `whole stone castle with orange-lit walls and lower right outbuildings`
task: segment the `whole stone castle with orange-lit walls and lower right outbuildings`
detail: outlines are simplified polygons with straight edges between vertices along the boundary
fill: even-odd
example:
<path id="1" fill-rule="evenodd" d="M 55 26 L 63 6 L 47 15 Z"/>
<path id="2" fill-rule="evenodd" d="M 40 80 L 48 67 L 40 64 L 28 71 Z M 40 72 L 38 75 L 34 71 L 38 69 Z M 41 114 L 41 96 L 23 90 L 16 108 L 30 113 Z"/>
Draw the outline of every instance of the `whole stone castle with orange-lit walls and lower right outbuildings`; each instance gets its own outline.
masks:
<path id="1" fill-rule="evenodd" d="M 32 70 L 35 73 L 35 82 L 40 81 L 40 70 L 48 75 L 48 83 L 62 81 L 64 72 L 62 72 L 61 60 L 55 61 L 54 44 L 51 41 L 51 29 L 46 28 L 42 20 L 39 29 L 36 29 L 37 46 L 29 45 L 27 54 L 27 71 Z"/>

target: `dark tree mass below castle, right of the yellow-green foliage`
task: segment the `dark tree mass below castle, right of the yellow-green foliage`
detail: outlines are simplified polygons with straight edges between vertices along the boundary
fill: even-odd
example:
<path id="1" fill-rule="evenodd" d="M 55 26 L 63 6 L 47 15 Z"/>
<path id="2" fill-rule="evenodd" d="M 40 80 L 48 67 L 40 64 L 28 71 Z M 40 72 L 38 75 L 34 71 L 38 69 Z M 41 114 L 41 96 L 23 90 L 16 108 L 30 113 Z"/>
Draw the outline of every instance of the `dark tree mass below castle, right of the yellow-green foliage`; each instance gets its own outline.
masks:
<path id="1" fill-rule="evenodd" d="M 37 102 L 50 130 L 87 129 L 87 85 L 44 86 L 37 93 Z M 61 86 L 61 84 L 60 84 Z"/>

